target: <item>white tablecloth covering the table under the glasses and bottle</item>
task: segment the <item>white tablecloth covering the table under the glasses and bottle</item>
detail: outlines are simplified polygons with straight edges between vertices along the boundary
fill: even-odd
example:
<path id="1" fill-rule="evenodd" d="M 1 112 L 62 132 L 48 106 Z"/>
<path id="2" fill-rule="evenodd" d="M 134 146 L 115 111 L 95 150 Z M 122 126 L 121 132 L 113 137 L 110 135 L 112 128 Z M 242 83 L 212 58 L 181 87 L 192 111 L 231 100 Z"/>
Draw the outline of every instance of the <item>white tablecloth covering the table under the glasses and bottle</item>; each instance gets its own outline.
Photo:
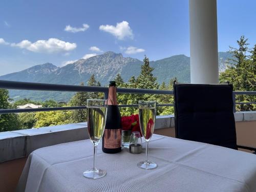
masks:
<path id="1" fill-rule="evenodd" d="M 90 140 L 40 148 L 30 154 L 17 191 L 256 191 L 256 155 L 205 143 L 154 135 L 150 159 L 158 164 L 143 170 L 145 154 L 104 154 L 98 147 L 97 167 L 103 178 L 82 173 L 93 164 Z"/>

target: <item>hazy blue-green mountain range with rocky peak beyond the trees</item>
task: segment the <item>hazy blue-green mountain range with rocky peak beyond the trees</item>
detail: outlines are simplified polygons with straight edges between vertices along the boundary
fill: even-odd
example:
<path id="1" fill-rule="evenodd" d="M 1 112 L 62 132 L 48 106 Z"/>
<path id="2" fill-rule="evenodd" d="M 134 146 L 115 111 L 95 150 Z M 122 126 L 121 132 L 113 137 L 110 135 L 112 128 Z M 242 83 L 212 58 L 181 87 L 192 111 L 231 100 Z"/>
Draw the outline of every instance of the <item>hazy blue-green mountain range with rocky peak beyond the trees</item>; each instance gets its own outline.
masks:
<path id="1" fill-rule="evenodd" d="M 220 70 L 226 68 L 226 60 L 231 55 L 228 52 L 219 53 Z M 10 73 L 0 76 L 2 80 L 44 82 L 59 84 L 79 84 L 81 81 L 87 82 L 92 74 L 95 74 L 102 86 L 113 80 L 116 74 L 120 73 L 124 81 L 131 76 L 140 74 L 140 67 L 143 61 L 123 57 L 121 53 L 105 52 L 101 55 L 93 56 L 88 59 L 79 59 L 64 67 L 56 67 L 52 63 L 36 65 L 23 71 Z M 189 57 L 185 55 L 175 55 L 168 58 L 150 61 L 154 76 L 157 81 L 162 83 L 169 82 L 170 79 L 177 77 L 180 82 L 190 81 Z M 57 101 L 69 101 L 74 93 L 70 92 L 41 92 L 10 90 L 10 96 L 14 99 L 31 98 L 34 100 L 55 99 Z"/>

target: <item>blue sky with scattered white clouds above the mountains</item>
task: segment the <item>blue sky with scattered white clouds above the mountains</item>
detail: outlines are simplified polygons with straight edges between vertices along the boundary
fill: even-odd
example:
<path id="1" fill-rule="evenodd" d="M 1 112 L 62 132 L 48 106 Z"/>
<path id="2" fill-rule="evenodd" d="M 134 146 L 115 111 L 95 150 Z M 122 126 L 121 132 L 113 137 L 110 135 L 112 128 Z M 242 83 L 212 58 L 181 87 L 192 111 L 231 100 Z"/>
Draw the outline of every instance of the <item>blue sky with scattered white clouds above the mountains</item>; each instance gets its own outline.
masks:
<path id="1" fill-rule="evenodd" d="M 219 51 L 241 35 L 256 44 L 256 1 L 217 4 Z M 188 0 L 0 2 L 0 75 L 105 51 L 141 60 L 189 56 Z"/>

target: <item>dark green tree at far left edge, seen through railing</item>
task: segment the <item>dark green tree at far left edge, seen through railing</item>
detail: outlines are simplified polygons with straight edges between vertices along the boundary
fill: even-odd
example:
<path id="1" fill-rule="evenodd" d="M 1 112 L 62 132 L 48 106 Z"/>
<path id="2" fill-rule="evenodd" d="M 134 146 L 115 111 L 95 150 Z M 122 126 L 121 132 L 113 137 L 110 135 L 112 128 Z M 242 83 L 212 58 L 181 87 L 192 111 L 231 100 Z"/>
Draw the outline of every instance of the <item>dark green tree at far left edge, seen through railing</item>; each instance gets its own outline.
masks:
<path id="1" fill-rule="evenodd" d="M 10 109 L 10 97 L 8 90 L 0 89 L 0 109 Z M 20 129 L 16 114 L 0 114 L 0 132 Z"/>

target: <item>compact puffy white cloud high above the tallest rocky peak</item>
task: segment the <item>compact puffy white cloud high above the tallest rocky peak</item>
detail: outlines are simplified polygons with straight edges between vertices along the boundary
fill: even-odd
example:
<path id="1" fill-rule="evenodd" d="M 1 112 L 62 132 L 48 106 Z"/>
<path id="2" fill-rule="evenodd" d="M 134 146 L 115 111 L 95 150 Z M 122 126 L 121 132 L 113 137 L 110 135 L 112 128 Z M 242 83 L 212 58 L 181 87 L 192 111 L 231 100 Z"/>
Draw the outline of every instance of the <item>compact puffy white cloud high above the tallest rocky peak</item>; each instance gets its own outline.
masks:
<path id="1" fill-rule="evenodd" d="M 99 29 L 108 33 L 111 33 L 119 40 L 123 40 L 125 37 L 129 37 L 133 39 L 133 30 L 130 28 L 129 23 L 123 21 L 121 23 L 117 23 L 116 26 L 113 25 L 101 25 Z"/>

